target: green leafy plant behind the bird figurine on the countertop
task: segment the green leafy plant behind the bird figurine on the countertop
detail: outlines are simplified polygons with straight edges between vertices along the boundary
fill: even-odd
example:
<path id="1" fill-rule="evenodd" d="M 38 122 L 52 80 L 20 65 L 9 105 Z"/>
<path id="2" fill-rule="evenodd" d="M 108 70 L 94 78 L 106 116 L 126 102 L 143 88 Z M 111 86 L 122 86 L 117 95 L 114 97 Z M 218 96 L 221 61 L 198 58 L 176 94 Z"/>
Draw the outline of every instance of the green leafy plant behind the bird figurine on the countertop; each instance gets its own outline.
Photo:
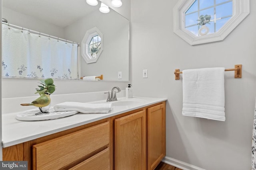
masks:
<path id="1" fill-rule="evenodd" d="M 55 85 L 53 84 L 52 78 L 40 80 L 40 84 L 42 84 L 42 86 L 38 86 L 39 89 L 36 88 L 35 94 L 38 93 L 41 96 L 42 94 L 45 94 L 45 93 L 52 94 L 55 91 Z"/>

